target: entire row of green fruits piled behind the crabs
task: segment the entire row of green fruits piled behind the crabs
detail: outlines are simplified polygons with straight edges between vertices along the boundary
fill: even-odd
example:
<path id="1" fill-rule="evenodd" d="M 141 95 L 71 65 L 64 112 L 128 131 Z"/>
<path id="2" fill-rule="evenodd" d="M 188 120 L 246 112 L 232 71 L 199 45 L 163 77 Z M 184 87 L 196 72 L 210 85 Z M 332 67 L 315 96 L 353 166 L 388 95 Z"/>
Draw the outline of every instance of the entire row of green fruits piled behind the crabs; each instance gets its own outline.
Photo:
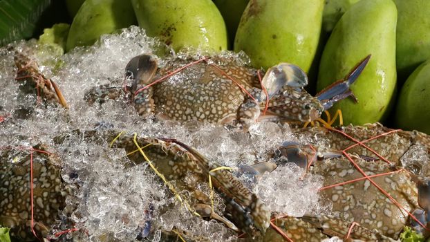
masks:
<path id="1" fill-rule="evenodd" d="M 351 86 L 358 102 L 347 98 L 330 110 L 340 109 L 344 124 L 383 122 L 430 134 L 429 0 L 66 0 L 66 5 L 70 28 L 56 25 L 41 37 L 57 39 L 64 51 L 138 25 L 176 51 L 243 51 L 255 68 L 296 64 L 308 73 L 307 89 L 314 94 L 371 55 Z"/>

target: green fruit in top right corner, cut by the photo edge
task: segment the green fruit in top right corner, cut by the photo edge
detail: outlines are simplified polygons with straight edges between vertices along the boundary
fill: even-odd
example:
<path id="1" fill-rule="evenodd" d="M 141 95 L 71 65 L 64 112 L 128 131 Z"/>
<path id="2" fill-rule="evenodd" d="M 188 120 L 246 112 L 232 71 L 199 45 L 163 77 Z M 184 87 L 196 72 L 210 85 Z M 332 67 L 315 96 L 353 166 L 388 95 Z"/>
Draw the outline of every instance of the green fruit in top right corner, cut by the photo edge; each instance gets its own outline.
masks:
<path id="1" fill-rule="evenodd" d="M 398 8 L 396 64 L 399 84 L 430 59 L 430 1 L 395 0 Z"/>

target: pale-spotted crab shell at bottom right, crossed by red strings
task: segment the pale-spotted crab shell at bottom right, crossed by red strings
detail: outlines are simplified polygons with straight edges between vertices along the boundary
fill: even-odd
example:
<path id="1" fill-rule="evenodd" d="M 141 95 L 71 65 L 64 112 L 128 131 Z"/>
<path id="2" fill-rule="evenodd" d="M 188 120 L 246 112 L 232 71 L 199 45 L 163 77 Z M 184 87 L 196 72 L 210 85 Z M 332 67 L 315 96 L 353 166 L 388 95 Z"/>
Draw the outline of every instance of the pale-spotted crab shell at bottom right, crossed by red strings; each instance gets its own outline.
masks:
<path id="1" fill-rule="evenodd" d="M 356 158 L 355 162 L 368 176 L 391 171 L 389 166 L 380 160 L 366 161 Z M 324 176 L 325 186 L 363 177 L 346 158 L 315 162 L 312 174 Z M 368 230 L 377 230 L 384 236 L 397 239 L 404 226 L 408 224 L 407 212 L 412 212 L 418 207 L 417 187 L 411 180 L 411 176 L 403 170 L 371 179 L 388 192 L 404 210 L 395 205 L 367 179 L 323 189 L 321 202 L 331 204 L 330 215 L 339 220 L 348 223 L 356 222 Z M 330 225 L 330 223 L 327 224 Z M 326 230 L 330 230 L 330 227 L 326 227 Z M 331 230 L 337 234 L 346 234 L 348 227 L 337 231 L 333 227 Z M 357 236 L 353 234 L 352 237 L 360 239 L 359 234 Z"/>

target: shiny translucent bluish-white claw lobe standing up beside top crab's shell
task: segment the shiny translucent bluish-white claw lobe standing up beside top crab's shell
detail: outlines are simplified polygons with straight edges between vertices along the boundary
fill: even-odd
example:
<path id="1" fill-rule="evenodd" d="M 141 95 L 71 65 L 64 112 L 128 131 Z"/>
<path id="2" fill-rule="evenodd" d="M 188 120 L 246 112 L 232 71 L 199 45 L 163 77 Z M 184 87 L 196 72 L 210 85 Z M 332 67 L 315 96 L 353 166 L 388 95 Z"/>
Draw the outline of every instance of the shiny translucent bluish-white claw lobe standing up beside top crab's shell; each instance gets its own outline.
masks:
<path id="1" fill-rule="evenodd" d="M 269 68 L 261 82 L 268 91 L 269 98 L 272 98 L 283 86 L 287 85 L 294 88 L 306 86 L 308 76 L 299 66 L 281 63 Z"/>

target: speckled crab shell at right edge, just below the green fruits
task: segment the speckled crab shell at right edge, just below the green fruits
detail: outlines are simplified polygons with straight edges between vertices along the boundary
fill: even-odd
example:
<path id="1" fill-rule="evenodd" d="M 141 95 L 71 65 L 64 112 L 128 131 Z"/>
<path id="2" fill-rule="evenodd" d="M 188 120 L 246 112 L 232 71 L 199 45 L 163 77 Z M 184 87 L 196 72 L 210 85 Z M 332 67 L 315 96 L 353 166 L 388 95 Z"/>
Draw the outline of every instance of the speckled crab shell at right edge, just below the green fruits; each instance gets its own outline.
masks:
<path id="1" fill-rule="evenodd" d="M 347 138 L 339 131 L 346 133 L 350 136 Z M 384 157 L 386 161 L 391 162 L 392 165 L 402 166 L 402 159 L 409 156 L 409 153 L 414 151 L 416 148 L 421 147 L 424 152 L 422 156 L 430 158 L 430 136 L 419 131 L 402 131 L 389 129 L 384 127 L 380 123 L 365 124 L 364 126 L 353 126 L 348 125 L 346 127 L 340 127 L 338 131 L 336 129 L 326 129 L 322 127 L 311 127 L 307 129 L 296 129 L 295 133 L 300 138 L 311 140 L 326 140 L 325 147 L 320 147 L 321 144 L 311 142 L 315 149 L 322 149 L 324 153 L 328 147 L 332 150 L 342 151 L 351 145 L 355 145 L 351 149 L 348 149 L 348 153 L 353 155 L 361 156 L 368 160 L 380 159 L 375 153 L 370 151 L 368 148 L 376 151 L 380 156 Z M 364 145 L 356 145 L 357 142 L 354 140 L 364 142 Z M 366 141 L 368 140 L 368 141 Z M 421 157 L 424 160 L 425 157 Z M 413 167 L 405 167 L 415 175 L 430 176 L 430 169 L 423 167 L 420 159 L 417 159 Z"/>

